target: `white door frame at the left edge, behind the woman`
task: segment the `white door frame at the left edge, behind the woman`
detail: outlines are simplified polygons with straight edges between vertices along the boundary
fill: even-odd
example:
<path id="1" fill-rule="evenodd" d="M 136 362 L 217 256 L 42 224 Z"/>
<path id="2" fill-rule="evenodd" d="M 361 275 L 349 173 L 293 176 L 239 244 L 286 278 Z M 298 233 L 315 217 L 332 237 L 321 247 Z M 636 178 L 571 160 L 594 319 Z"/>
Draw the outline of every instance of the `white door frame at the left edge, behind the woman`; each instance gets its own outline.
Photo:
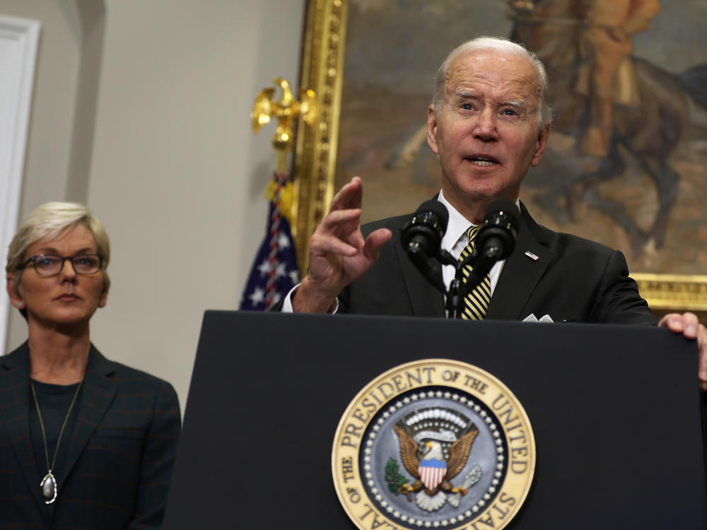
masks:
<path id="1" fill-rule="evenodd" d="M 0 16 L 0 270 L 17 228 L 40 23 Z M 9 300 L 0 289 L 0 355 L 5 353 Z"/>

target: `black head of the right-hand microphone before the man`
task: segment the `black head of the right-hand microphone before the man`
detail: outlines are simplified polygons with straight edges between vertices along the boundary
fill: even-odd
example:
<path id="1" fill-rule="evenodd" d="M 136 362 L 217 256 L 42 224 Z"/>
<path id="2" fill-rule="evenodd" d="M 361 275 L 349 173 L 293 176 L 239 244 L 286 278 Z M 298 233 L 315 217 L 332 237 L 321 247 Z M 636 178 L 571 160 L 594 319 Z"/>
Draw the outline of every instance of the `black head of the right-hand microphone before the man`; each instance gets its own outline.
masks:
<path id="1" fill-rule="evenodd" d="M 506 259 L 515 248 L 518 238 L 520 215 L 518 206 L 508 199 L 497 199 L 486 208 L 484 223 L 477 234 L 477 249 L 480 256 L 494 261 Z"/>

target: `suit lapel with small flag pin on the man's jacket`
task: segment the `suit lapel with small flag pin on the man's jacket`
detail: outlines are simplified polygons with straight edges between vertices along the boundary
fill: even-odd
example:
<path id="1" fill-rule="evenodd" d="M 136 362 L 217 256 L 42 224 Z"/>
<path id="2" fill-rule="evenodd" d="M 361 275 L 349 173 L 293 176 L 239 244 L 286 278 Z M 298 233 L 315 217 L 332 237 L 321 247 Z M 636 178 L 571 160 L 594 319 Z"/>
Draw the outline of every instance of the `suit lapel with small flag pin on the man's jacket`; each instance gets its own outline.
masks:
<path id="1" fill-rule="evenodd" d="M 523 307 L 547 269 L 552 256 L 542 242 L 532 234 L 528 225 L 534 225 L 534 221 L 523 208 L 515 250 L 503 264 L 503 271 L 493 290 L 486 319 L 520 320 L 527 317 L 527 314 L 522 314 Z M 535 316 L 540 318 L 543 315 Z"/>

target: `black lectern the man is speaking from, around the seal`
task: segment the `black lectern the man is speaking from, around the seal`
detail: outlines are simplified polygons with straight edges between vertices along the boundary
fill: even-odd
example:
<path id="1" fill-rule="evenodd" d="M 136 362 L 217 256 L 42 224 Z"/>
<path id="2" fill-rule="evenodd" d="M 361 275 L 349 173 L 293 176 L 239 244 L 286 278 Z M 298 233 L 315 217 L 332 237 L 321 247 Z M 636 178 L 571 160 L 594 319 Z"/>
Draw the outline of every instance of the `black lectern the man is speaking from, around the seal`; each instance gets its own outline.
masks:
<path id="1" fill-rule="evenodd" d="M 355 529 L 332 482 L 339 418 L 371 379 L 425 358 L 490 372 L 530 418 L 535 474 L 507 528 L 707 527 L 696 346 L 682 336 L 209 311 L 165 529 Z"/>

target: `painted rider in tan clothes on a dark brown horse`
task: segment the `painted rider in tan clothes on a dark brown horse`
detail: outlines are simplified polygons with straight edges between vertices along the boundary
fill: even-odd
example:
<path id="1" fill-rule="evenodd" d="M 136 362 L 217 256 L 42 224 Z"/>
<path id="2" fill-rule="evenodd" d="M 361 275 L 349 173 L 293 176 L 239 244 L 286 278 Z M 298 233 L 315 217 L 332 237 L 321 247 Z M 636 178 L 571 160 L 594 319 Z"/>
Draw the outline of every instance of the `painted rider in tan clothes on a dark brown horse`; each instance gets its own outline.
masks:
<path id="1" fill-rule="evenodd" d="M 573 140 L 578 175 L 537 201 L 548 211 L 582 218 L 585 194 L 621 177 L 629 162 L 655 183 L 658 210 L 650 225 L 627 205 L 597 196 L 593 206 L 620 226 L 634 256 L 665 242 L 679 174 L 670 154 L 689 119 L 690 102 L 678 79 L 638 57 L 632 38 L 648 29 L 659 0 L 508 0 L 512 38 L 538 54 L 553 86 L 553 129 Z M 571 157 L 571 154 L 566 152 Z"/>

